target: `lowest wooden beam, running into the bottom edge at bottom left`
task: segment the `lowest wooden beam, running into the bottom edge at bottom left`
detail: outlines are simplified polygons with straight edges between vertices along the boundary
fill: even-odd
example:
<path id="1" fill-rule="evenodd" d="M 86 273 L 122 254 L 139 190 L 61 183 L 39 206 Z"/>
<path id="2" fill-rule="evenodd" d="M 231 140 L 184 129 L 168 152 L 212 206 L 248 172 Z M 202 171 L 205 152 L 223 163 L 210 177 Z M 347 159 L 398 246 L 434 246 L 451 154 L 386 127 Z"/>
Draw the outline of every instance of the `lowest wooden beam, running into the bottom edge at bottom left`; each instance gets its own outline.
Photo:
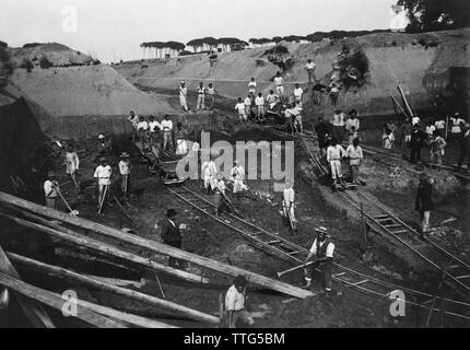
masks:
<path id="1" fill-rule="evenodd" d="M 61 299 L 59 295 L 52 292 L 27 284 L 22 280 L 19 280 L 16 278 L 13 278 L 2 272 L 0 272 L 0 284 L 24 296 L 39 301 L 43 304 L 46 304 L 52 308 L 56 308 L 59 312 L 62 311 L 63 303 L 66 302 L 63 299 Z M 81 320 L 86 322 L 87 324 L 91 324 L 99 328 L 128 328 L 121 322 L 110 319 L 108 317 L 105 317 L 101 314 L 97 314 L 93 311 L 90 311 L 83 307 L 78 310 L 77 316 L 74 315 L 71 315 L 71 316 L 77 317 Z"/>

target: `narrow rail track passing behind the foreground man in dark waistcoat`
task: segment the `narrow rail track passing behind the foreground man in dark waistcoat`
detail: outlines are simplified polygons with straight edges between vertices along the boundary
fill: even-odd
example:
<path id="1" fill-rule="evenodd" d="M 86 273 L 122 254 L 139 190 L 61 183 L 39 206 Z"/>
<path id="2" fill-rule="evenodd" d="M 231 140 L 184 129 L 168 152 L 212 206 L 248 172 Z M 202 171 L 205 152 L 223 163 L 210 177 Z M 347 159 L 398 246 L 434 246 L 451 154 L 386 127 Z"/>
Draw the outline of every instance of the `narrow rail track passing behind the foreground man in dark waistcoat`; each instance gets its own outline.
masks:
<path id="1" fill-rule="evenodd" d="M 262 252 L 280 258 L 291 265 L 301 266 L 307 257 L 308 249 L 299 246 L 277 233 L 267 231 L 245 219 L 227 213 L 226 219 L 222 220 L 213 214 L 215 206 L 197 192 L 197 189 L 181 185 L 169 187 L 167 189 L 185 203 L 189 205 L 199 212 L 215 220 L 230 231 L 233 231 L 251 243 Z M 431 293 L 416 291 L 403 285 L 390 283 L 376 277 L 368 276 L 361 271 L 334 262 L 332 278 L 336 282 L 343 284 L 345 288 L 354 288 L 378 298 L 390 300 L 390 292 L 401 290 L 407 293 L 404 302 L 424 310 L 443 313 L 448 316 L 470 320 L 470 304 L 451 299 L 437 298 L 438 301 L 447 305 L 447 310 L 435 307 L 435 295 Z M 431 306 L 427 306 L 431 305 Z"/>

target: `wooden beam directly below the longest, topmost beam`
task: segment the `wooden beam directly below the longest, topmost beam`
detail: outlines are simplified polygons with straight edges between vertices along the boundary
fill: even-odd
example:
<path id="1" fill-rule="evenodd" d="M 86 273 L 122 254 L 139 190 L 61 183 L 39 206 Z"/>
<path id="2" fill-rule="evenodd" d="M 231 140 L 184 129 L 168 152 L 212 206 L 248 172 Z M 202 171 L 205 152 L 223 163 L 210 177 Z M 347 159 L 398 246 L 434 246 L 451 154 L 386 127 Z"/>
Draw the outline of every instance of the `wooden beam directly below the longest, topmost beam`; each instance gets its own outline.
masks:
<path id="1" fill-rule="evenodd" d="M 28 215 L 26 212 L 24 212 L 24 214 Z M 172 268 L 169 266 L 165 266 L 163 264 L 158 264 L 158 262 L 156 262 L 150 258 L 142 257 L 142 256 L 139 256 L 138 254 L 115 247 L 111 244 L 104 243 L 102 241 L 87 237 L 87 236 L 82 235 L 75 231 L 66 229 L 59 224 L 52 223 L 48 220 L 45 220 L 45 219 L 36 217 L 36 215 L 32 215 L 32 217 L 35 217 L 34 220 L 40 221 L 45 225 L 40 225 L 40 224 L 30 222 L 30 221 L 26 221 L 23 219 L 14 218 L 12 215 L 8 215 L 8 214 L 1 213 L 1 212 L 0 212 L 0 215 L 8 218 L 8 219 L 16 222 L 17 224 L 25 226 L 25 228 L 33 229 L 35 231 L 49 234 L 56 238 L 64 241 L 68 244 L 71 244 L 71 245 L 75 245 L 79 247 L 87 247 L 92 250 L 105 254 L 107 256 L 117 257 L 117 258 L 137 264 L 139 266 L 144 267 L 144 268 L 150 268 L 150 269 L 153 269 L 156 271 L 167 273 L 169 276 L 183 279 L 183 280 L 188 281 L 188 282 L 209 283 L 209 279 L 203 278 L 201 276 L 190 273 L 187 271 L 181 271 L 181 270 Z M 47 228 L 47 226 L 49 226 L 49 228 Z"/>

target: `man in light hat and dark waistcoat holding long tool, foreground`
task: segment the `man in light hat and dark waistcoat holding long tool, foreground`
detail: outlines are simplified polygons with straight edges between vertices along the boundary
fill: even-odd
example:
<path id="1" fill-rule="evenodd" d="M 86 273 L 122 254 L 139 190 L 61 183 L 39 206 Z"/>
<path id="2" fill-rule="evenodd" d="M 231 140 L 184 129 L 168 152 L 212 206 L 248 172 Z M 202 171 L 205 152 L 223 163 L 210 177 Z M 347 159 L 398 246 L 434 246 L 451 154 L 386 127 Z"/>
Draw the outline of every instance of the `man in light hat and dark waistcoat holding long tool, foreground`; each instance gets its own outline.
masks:
<path id="1" fill-rule="evenodd" d="M 334 244 L 330 241 L 327 228 L 315 229 L 317 232 L 317 238 L 315 238 L 312 245 L 310 252 L 304 262 L 304 273 L 306 284 L 304 288 L 310 288 L 312 279 L 314 278 L 315 271 L 318 268 L 321 273 L 321 283 L 325 292 L 331 292 L 331 270 L 333 268 L 333 253 Z M 312 264 L 312 275 L 308 277 L 307 262 L 315 256 L 315 260 Z"/>

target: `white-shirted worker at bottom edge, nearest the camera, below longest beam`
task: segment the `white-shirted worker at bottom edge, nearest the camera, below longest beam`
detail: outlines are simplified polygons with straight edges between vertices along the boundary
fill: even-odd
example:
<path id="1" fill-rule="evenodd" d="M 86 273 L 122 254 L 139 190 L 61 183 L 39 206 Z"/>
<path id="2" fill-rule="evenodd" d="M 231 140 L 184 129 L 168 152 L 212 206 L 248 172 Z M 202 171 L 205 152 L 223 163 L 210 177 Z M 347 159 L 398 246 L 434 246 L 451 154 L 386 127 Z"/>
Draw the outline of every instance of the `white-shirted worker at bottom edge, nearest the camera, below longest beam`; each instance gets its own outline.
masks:
<path id="1" fill-rule="evenodd" d="M 238 319 L 249 325 L 255 324 L 252 317 L 250 317 L 249 313 L 245 310 L 246 284 L 246 278 L 240 275 L 234 280 L 232 287 L 225 294 L 224 317 L 228 328 L 235 328 L 235 324 Z"/>

